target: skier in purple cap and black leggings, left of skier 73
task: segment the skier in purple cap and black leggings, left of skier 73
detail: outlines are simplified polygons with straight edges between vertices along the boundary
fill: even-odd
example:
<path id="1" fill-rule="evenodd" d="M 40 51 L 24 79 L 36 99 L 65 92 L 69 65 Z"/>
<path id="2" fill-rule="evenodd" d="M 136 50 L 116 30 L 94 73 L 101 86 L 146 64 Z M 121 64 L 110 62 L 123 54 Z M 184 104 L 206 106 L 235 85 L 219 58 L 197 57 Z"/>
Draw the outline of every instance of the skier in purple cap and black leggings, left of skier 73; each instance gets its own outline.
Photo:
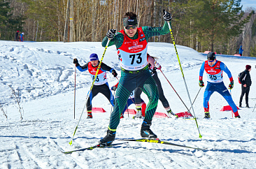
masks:
<path id="1" fill-rule="evenodd" d="M 78 59 L 73 59 L 73 64 L 76 64 L 76 68 L 78 68 L 78 70 L 81 72 L 88 70 L 93 81 L 97 72 L 97 68 L 99 66 L 99 58 L 97 54 L 92 53 L 90 55 L 90 62 L 88 62 L 84 66 L 80 66 L 80 64 L 78 64 Z M 92 91 L 86 103 L 87 119 L 92 119 L 92 98 L 94 98 L 94 96 L 97 96 L 97 94 L 99 93 L 103 94 L 106 98 L 108 98 L 108 101 L 111 103 L 111 105 L 114 106 L 114 96 L 108 87 L 106 71 L 111 72 L 114 77 L 118 75 L 118 73 L 116 73 L 113 68 L 107 66 L 104 63 L 101 64 L 101 68 L 99 69 L 96 80 L 94 81 L 94 85 L 92 87 Z"/>

